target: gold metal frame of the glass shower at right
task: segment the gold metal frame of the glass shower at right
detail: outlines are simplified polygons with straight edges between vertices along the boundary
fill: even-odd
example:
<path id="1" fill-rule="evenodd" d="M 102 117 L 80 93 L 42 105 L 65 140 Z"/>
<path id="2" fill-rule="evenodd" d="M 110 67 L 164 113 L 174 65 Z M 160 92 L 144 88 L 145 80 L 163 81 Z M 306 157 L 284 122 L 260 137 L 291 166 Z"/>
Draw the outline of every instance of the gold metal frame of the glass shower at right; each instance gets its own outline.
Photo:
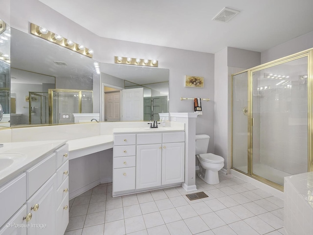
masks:
<path id="1" fill-rule="evenodd" d="M 252 100 L 253 100 L 253 88 L 252 88 L 252 74 L 255 71 L 260 71 L 263 69 L 267 69 L 273 66 L 277 66 L 277 65 L 281 65 L 284 64 L 286 62 L 295 60 L 295 59 L 299 59 L 299 58 L 303 58 L 303 57 L 307 57 L 308 58 L 308 172 L 313 171 L 313 48 L 274 60 L 274 61 L 270 61 L 268 63 L 244 70 L 244 71 L 240 71 L 237 73 L 234 73 L 231 75 L 231 168 L 233 170 L 236 170 L 242 174 L 245 174 L 251 178 L 254 178 L 262 183 L 265 183 L 273 188 L 279 189 L 281 191 L 284 191 L 284 187 L 274 183 L 266 178 L 263 178 L 259 175 L 255 175 L 253 174 L 253 164 L 252 164 L 252 159 L 253 159 L 253 116 L 252 116 Z M 241 74 L 247 72 L 248 75 L 248 148 L 247 148 L 247 173 L 243 172 L 241 170 L 238 170 L 236 168 L 233 167 L 233 77 L 235 75 Z"/>

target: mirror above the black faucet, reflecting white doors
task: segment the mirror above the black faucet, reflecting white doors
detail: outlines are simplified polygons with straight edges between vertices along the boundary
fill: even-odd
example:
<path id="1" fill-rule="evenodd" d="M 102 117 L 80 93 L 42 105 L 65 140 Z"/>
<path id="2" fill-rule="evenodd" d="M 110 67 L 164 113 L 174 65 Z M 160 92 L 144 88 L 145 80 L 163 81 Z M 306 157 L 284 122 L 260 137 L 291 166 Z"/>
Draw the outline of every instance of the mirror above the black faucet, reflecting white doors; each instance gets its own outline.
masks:
<path id="1" fill-rule="evenodd" d="M 101 63 L 100 71 L 101 120 L 158 121 L 161 114 L 168 118 L 168 69 Z"/>

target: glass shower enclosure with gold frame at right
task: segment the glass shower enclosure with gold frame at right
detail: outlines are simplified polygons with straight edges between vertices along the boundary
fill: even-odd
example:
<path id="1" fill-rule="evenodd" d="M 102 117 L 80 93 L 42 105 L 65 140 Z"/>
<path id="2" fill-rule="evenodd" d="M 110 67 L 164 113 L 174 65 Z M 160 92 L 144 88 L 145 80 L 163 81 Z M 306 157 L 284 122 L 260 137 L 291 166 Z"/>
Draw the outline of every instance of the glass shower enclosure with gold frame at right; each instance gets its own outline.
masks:
<path id="1" fill-rule="evenodd" d="M 313 170 L 313 50 L 232 75 L 232 168 L 283 190 Z"/>

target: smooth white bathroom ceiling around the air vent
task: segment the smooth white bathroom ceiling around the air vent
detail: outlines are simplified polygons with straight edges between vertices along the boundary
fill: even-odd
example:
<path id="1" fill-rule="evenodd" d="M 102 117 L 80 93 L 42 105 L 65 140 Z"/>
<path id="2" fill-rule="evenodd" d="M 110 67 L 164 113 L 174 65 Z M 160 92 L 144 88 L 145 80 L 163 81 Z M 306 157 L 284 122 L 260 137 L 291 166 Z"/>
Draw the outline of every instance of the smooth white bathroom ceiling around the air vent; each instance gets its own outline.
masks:
<path id="1" fill-rule="evenodd" d="M 313 0 L 40 0 L 105 38 L 215 53 L 262 52 L 313 31 Z M 212 21 L 224 8 L 240 11 Z"/>

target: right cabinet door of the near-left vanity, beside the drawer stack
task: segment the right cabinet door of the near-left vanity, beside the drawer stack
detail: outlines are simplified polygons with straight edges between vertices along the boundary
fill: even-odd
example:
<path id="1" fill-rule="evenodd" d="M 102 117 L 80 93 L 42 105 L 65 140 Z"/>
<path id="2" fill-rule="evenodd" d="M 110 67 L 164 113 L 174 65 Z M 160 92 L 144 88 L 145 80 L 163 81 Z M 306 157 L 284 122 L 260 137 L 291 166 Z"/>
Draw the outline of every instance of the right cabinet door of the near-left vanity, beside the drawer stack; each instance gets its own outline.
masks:
<path id="1" fill-rule="evenodd" d="M 56 173 L 54 173 L 26 202 L 27 213 L 32 213 L 31 220 L 27 222 L 29 224 L 27 235 L 56 234 L 56 191 Z"/>

